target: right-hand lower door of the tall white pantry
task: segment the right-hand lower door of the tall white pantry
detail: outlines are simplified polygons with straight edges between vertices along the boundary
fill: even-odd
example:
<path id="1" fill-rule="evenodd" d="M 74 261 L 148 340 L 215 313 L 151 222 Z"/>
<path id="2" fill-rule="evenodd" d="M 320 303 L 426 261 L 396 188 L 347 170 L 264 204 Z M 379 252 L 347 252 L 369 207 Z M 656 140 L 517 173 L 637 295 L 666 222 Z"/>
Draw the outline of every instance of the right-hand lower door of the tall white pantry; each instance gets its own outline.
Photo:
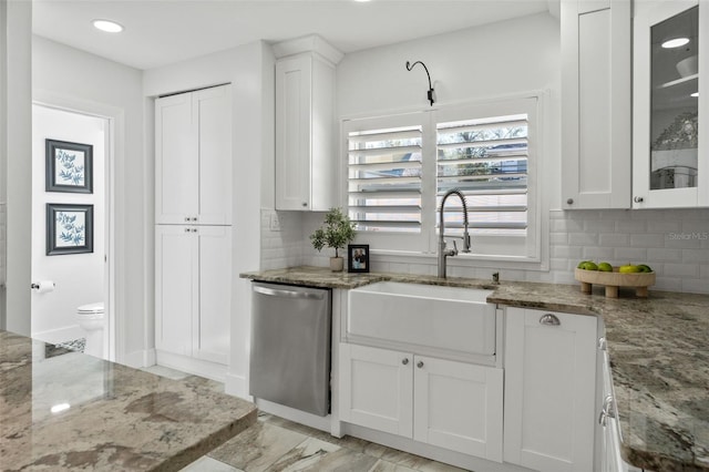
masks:
<path id="1" fill-rule="evenodd" d="M 232 228 L 194 229 L 199 246 L 199 309 L 193 317 L 193 357 L 226 365 L 232 315 Z"/>

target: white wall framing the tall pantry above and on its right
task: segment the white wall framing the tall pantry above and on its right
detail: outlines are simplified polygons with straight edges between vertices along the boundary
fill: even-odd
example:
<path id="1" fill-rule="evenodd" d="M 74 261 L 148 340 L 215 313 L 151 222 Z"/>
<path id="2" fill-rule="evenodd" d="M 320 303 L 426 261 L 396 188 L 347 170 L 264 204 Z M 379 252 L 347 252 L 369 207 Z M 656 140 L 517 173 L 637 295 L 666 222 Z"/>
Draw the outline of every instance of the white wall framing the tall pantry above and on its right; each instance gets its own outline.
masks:
<path id="1" fill-rule="evenodd" d="M 239 274 L 260 267 L 260 206 L 274 201 L 274 55 L 254 42 L 165 68 L 145 71 L 146 98 L 232 83 L 233 129 L 233 270 L 232 355 L 226 390 L 248 396 L 250 286 Z M 148 135 L 152 131 L 147 132 Z M 151 154 L 151 165 L 154 156 Z M 153 249 L 154 250 L 154 249 Z M 148 259 L 153 256 L 148 256 Z M 225 261 L 229 264 L 229 261 Z"/>

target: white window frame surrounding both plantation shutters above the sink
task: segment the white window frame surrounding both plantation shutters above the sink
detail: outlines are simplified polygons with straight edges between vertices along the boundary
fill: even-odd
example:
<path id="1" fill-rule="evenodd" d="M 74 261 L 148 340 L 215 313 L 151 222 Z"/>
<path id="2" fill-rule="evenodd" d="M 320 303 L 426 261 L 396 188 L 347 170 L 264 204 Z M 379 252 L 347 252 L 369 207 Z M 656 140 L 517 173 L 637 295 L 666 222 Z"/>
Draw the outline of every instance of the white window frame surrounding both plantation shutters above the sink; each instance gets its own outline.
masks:
<path id="1" fill-rule="evenodd" d="M 548 257 L 543 250 L 543 229 L 547 226 L 542 215 L 543 183 L 541 170 L 544 167 L 544 102 L 545 92 L 533 92 L 475 101 L 450 105 L 436 104 L 435 109 L 418 110 L 412 112 L 382 113 L 378 116 L 343 117 L 340 120 L 340 163 L 343 172 L 342 206 L 348 207 L 348 133 L 354 130 L 372 127 L 403 126 L 418 123 L 423 127 L 423 178 L 421 188 L 421 233 L 418 235 L 398 233 L 370 233 L 358 234 L 358 243 L 369 244 L 373 257 L 383 256 L 388 260 L 395 261 L 388 256 L 423 257 L 430 259 L 438 252 L 438 220 L 435 205 L 436 193 L 436 123 L 459 120 L 471 120 L 483 116 L 501 116 L 526 112 L 528 115 L 527 130 L 527 235 L 524 245 L 511 246 L 497 244 L 494 237 L 473 237 L 471 254 L 459 254 L 449 259 L 449 265 L 465 265 L 472 261 L 483 263 L 490 267 L 518 267 L 525 269 L 545 269 Z M 451 199 L 449 199 L 449 203 Z M 448 206 L 448 204 L 446 204 Z M 483 239 L 484 240 L 483 243 Z M 452 245 L 452 243 L 450 243 Z M 515 250 L 511 250 L 515 248 Z M 459 244 L 460 249 L 460 244 Z M 421 259 L 417 259 L 422 261 Z"/>

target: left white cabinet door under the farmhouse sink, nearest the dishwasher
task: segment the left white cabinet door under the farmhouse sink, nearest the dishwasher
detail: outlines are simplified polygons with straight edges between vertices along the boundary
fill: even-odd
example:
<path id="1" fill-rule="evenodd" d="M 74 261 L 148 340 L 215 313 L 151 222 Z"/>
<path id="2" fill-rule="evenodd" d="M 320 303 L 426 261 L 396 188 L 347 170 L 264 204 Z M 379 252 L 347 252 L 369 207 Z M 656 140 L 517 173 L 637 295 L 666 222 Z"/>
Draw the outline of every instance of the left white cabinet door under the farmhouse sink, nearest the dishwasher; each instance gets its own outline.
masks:
<path id="1" fill-rule="evenodd" d="M 413 355 L 340 343 L 340 419 L 411 438 Z"/>

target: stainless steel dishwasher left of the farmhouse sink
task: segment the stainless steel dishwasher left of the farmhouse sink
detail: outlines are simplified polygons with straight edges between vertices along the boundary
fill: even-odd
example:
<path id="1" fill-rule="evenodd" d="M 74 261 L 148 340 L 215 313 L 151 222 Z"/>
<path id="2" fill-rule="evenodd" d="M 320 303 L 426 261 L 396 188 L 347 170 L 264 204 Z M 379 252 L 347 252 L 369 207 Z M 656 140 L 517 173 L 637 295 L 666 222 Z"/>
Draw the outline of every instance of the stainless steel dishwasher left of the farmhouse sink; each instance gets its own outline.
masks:
<path id="1" fill-rule="evenodd" d="M 253 284 L 249 393 L 325 417 L 330 404 L 330 290 Z"/>

